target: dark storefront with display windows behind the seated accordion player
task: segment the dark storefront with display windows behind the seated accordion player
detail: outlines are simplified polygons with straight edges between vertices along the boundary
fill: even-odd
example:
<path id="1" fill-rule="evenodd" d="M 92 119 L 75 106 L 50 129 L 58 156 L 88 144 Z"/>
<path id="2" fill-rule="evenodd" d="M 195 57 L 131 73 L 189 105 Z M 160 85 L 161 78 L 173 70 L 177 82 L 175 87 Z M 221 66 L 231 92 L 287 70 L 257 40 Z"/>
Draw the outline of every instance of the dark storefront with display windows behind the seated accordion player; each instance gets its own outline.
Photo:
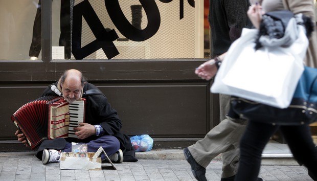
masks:
<path id="1" fill-rule="evenodd" d="M 0 9 L 0 151 L 28 150 L 10 117 L 67 69 L 102 90 L 124 133 L 149 134 L 154 148 L 188 146 L 218 124 L 211 82 L 194 74 L 210 55 L 208 1 L 0 0 Z"/>

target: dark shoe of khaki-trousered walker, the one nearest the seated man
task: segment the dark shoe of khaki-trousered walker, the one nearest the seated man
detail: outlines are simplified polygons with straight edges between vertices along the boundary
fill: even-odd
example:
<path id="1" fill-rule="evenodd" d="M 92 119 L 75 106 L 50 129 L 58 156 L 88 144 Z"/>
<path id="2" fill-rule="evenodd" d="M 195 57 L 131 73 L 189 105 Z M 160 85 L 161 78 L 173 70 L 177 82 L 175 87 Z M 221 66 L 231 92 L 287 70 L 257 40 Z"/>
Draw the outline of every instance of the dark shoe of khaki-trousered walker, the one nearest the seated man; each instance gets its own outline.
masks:
<path id="1" fill-rule="evenodd" d="M 187 160 L 187 162 L 189 163 L 189 165 L 192 168 L 192 172 L 194 174 L 194 177 L 198 180 L 198 181 L 207 181 L 207 178 L 205 176 L 206 174 L 206 168 L 202 167 L 201 165 L 199 165 L 195 159 L 193 158 L 193 155 L 190 153 L 188 148 L 184 149 L 184 155 L 185 155 L 185 159 Z"/>

